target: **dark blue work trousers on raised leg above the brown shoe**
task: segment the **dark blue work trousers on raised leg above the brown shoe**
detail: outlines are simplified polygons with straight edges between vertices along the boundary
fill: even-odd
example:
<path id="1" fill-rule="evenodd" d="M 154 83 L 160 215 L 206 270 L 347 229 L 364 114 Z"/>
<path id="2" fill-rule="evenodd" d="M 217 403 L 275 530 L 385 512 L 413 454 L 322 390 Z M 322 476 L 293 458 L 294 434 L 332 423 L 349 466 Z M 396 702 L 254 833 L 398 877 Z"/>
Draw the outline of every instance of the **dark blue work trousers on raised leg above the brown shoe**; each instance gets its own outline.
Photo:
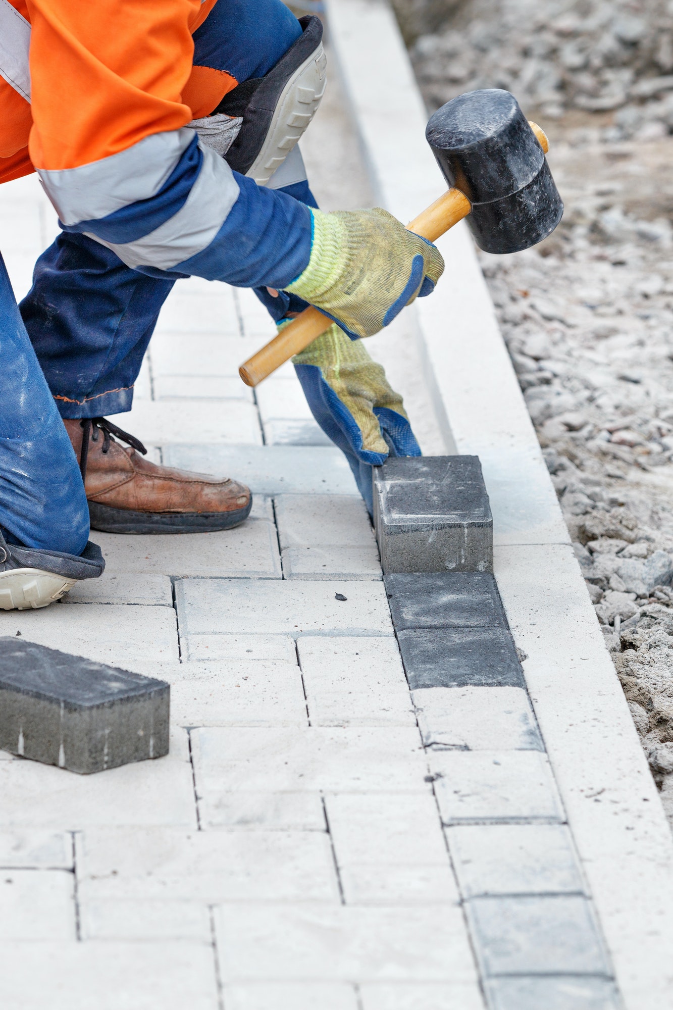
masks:
<path id="1" fill-rule="evenodd" d="M 194 33 L 194 65 L 238 83 L 268 73 L 301 33 L 281 0 L 217 0 Z M 285 188 L 315 206 L 308 184 Z M 62 232 L 38 259 L 21 316 L 62 417 L 130 410 L 159 311 L 174 281 L 130 270 L 86 235 Z M 275 318 L 282 299 L 262 298 Z"/>

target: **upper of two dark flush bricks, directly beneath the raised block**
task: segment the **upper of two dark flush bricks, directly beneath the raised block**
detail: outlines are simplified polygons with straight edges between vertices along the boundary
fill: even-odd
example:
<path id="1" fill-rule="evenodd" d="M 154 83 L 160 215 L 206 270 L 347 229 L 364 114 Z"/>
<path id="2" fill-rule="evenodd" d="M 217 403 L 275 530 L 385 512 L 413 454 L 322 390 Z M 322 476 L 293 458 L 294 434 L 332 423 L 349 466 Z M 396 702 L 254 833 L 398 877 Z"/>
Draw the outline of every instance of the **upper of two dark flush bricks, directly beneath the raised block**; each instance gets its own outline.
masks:
<path id="1" fill-rule="evenodd" d="M 481 572 L 385 576 L 395 628 L 506 627 L 492 575 Z"/>

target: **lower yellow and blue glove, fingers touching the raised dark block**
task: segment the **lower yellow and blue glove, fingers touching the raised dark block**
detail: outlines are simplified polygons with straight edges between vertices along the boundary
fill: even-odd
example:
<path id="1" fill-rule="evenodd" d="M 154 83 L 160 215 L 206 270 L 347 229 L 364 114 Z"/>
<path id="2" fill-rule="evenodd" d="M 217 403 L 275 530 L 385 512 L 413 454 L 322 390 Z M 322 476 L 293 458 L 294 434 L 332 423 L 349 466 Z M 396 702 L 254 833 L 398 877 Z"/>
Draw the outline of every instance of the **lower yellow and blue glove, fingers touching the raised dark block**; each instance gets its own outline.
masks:
<path id="1" fill-rule="evenodd" d="M 388 456 L 420 456 L 402 398 L 363 343 L 336 325 L 293 359 L 313 417 L 345 453 L 372 512 L 372 467 Z"/>

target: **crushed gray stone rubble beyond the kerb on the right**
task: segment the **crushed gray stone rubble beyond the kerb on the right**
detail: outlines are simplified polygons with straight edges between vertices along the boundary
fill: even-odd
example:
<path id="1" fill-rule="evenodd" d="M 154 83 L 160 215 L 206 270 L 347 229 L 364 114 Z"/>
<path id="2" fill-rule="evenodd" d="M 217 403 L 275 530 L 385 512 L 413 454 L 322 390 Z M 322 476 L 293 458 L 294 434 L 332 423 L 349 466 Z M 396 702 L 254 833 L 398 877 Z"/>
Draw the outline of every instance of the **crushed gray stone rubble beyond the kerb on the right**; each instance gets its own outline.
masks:
<path id="1" fill-rule="evenodd" d="M 412 6 L 428 109 L 503 87 L 552 140 L 563 222 L 481 262 L 673 824 L 673 2 Z"/>

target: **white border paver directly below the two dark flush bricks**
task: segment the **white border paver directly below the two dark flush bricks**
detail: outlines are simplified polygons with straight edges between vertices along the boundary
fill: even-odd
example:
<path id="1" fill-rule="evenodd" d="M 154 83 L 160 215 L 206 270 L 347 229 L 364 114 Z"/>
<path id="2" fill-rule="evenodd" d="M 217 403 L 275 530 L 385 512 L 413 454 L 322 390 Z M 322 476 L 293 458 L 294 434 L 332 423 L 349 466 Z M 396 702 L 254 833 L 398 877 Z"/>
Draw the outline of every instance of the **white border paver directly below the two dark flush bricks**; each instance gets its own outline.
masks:
<path id="1" fill-rule="evenodd" d="M 544 749 L 521 688 L 421 688 L 412 698 L 425 746 Z"/>

